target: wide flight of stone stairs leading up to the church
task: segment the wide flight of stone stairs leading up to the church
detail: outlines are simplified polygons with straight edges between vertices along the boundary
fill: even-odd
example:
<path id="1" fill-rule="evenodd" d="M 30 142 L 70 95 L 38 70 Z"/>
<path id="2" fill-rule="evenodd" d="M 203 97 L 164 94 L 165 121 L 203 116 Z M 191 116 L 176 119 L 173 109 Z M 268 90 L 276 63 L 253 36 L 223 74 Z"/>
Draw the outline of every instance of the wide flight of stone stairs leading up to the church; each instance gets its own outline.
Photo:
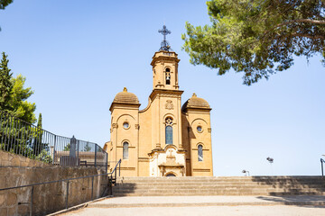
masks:
<path id="1" fill-rule="evenodd" d="M 114 196 L 325 195 L 321 176 L 119 177 Z"/>

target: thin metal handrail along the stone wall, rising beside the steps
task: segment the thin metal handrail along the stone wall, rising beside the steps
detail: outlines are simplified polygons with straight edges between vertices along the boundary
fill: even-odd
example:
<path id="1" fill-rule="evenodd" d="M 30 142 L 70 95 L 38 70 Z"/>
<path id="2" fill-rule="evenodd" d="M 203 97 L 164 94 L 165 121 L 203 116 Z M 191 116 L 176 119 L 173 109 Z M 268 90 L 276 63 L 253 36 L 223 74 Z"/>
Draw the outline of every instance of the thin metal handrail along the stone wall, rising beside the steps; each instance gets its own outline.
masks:
<path id="1" fill-rule="evenodd" d="M 75 178 L 67 178 L 67 179 L 60 179 L 60 180 L 56 180 L 56 181 L 51 181 L 51 182 L 43 182 L 43 183 L 36 183 L 36 184 L 26 184 L 26 185 L 21 185 L 21 186 L 14 186 L 14 187 L 6 187 L 6 188 L 0 188 L 0 192 L 1 191 L 6 191 L 6 190 L 12 190 L 12 189 L 18 189 L 18 188 L 23 188 L 23 187 L 32 187 L 32 193 L 31 193 L 31 203 L 30 203 L 30 215 L 32 216 L 32 200 L 33 200 L 33 189 L 34 186 L 37 185 L 42 185 L 42 184 L 52 184 L 52 183 L 60 183 L 60 182 L 67 182 L 67 196 L 66 196 L 66 209 L 68 209 L 68 204 L 69 204 L 69 182 L 73 181 L 73 180 L 77 180 L 77 179 L 82 179 L 82 178 L 89 178 L 91 177 L 91 200 L 93 200 L 93 193 L 94 193 L 94 177 L 96 176 L 100 176 L 100 175 L 110 175 L 110 179 L 108 179 L 109 181 L 109 187 L 110 187 L 110 195 L 113 195 L 112 192 L 112 183 L 116 183 L 116 175 L 117 175 L 117 171 L 116 168 L 118 166 L 118 176 L 121 175 L 121 162 L 122 160 L 119 159 L 115 168 L 113 169 L 112 172 L 110 173 L 105 173 L 105 174 L 98 174 L 98 175 L 88 175 L 88 176 L 81 176 L 81 177 L 75 177 Z M 113 173 L 115 173 L 115 179 L 113 179 Z"/>

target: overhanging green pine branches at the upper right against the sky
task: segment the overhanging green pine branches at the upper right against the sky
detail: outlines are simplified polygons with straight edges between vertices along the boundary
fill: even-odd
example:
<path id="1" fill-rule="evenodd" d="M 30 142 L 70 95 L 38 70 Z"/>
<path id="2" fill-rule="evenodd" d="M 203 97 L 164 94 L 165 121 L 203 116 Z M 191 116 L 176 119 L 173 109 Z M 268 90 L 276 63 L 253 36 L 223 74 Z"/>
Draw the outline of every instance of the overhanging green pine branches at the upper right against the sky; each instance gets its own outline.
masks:
<path id="1" fill-rule="evenodd" d="M 322 55 L 324 0 L 211 0 L 211 25 L 186 23 L 183 49 L 194 65 L 244 72 L 244 84 L 266 79 L 293 64 L 293 56 Z"/>

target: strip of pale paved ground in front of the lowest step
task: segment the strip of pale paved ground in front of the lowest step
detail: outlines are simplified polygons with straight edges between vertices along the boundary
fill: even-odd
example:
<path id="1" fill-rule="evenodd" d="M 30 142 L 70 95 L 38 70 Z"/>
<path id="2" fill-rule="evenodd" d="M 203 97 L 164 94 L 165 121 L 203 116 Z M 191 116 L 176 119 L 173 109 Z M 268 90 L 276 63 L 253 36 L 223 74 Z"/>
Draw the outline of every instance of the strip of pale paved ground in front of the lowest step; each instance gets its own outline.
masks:
<path id="1" fill-rule="evenodd" d="M 206 207 L 140 207 L 140 208 L 86 208 L 79 211 L 71 211 L 64 215 L 80 215 L 80 216 L 324 216 L 325 209 L 312 207 L 297 206 L 206 206 Z"/>

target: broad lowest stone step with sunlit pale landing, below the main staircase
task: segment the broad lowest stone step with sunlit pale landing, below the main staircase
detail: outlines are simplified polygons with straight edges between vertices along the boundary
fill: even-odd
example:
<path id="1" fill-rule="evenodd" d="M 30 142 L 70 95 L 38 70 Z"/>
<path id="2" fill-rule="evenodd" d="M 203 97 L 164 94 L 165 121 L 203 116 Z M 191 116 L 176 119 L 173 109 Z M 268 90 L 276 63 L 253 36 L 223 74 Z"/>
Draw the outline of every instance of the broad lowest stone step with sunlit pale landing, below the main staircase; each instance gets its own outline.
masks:
<path id="1" fill-rule="evenodd" d="M 88 202 L 90 208 L 203 207 L 238 205 L 313 205 L 324 206 L 325 196 L 134 196 Z M 215 213 L 217 214 L 217 213 Z"/>

